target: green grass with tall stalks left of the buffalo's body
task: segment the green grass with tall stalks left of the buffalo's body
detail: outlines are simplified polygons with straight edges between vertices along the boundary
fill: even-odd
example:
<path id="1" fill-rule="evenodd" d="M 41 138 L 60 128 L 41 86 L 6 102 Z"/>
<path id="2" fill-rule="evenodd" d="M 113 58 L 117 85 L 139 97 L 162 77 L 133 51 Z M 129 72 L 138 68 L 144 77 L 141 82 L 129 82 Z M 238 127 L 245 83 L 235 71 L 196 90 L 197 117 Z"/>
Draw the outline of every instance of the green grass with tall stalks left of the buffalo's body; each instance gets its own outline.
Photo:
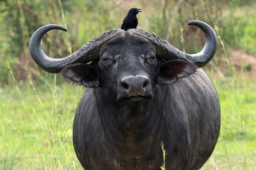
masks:
<path id="1" fill-rule="evenodd" d="M 0 89 L 0 169 L 81 169 L 72 124 L 83 89 L 49 84 Z"/>

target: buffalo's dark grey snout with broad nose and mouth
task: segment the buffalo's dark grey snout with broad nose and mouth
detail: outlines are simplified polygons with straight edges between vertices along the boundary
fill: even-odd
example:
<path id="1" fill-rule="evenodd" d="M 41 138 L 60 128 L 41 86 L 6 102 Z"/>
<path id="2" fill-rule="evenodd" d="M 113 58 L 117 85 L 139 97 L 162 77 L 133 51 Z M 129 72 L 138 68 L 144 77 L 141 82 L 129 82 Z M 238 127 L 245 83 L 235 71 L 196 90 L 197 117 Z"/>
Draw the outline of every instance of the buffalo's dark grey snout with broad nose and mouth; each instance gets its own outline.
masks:
<path id="1" fill-rule="evenodd" d="M 118 101 L 124 99 L 138 99 L 151 98 L 152 87 L 150 79 L 146 75 L 127 75 L 120 78 L 118 81 Z"/>

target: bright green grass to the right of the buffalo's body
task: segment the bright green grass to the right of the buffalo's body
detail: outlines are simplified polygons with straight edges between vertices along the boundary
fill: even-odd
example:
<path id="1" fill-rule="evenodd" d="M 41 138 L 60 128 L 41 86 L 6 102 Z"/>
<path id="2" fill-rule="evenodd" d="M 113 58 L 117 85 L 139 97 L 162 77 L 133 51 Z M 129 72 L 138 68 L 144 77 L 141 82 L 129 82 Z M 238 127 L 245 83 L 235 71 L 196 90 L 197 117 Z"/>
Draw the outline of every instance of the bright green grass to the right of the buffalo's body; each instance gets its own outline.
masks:
<path id="1" fill-rule="evenodd" d="M 216 80 L 221 104 L 221 131 L 202 169 L 256 169 L 256 87 L 247 78 Z"/>

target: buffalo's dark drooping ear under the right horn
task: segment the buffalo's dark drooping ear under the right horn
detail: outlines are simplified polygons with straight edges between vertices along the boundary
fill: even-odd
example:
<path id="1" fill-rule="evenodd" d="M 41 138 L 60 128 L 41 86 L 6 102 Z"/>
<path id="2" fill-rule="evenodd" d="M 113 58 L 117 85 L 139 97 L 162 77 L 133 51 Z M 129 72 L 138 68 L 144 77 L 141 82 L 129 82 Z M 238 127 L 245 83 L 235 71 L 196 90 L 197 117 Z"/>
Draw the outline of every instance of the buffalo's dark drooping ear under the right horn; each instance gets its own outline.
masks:
<path id="1" fill-rule="evenodd" d="M 164 65 L 159 68 L 157 83 L 159 85 L 171 85 L 179 78 L 184 78 L 195 71 L 196 66 L 186 60 L 164 61 Z"/>

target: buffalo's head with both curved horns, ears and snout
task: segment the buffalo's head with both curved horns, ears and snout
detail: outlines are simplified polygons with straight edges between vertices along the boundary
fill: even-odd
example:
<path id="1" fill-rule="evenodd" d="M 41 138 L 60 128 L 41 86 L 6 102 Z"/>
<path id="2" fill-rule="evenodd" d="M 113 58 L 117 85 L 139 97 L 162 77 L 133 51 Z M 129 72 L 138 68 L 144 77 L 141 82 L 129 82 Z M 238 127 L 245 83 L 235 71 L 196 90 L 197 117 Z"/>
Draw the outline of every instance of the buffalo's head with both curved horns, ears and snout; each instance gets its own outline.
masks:
<path id="1" fill-rule="evenodd" d="M 170 85 L 212 59 L 217 46 L 212 28 L 200 21 L 188 24 L 200 27 L 205 34 L 203 50 L 191 55 L 143 29 L 113 29 L 63 59 L 52 59 L 45 55 L 40 43 L 51 29 L 67 31 L 60 25 L 38 29 L 29 48 L 35 62 L 47 72 L 61 71 L 66 78 L 85 87 L 101 88 L 111 101 L 140 103 L 154 96 L 156 85 Z"/>

